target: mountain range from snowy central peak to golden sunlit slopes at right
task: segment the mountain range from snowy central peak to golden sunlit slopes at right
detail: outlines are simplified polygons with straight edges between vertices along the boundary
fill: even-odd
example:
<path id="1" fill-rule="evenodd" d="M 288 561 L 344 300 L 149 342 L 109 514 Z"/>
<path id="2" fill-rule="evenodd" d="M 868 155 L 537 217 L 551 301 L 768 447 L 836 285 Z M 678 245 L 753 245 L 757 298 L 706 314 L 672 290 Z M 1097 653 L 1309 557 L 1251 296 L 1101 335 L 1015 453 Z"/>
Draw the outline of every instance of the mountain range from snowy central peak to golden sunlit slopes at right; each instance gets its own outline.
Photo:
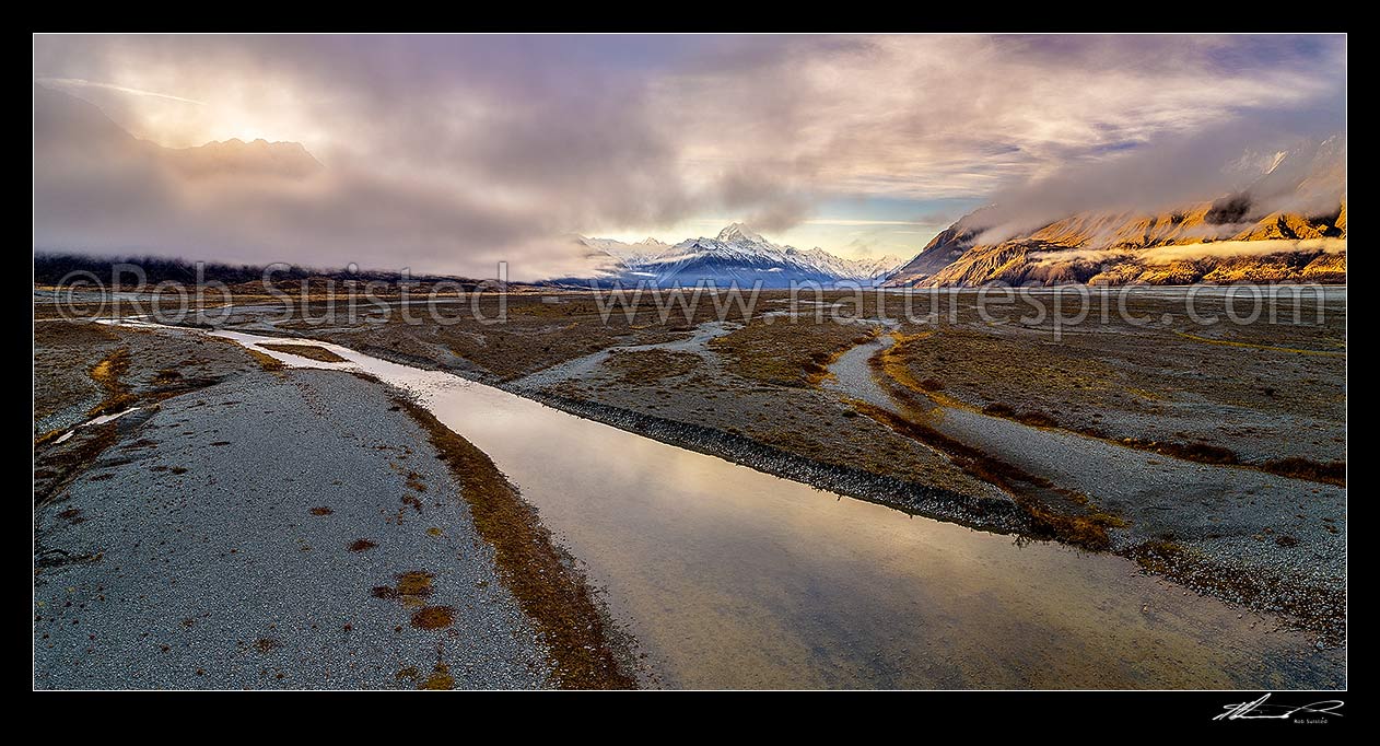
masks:
<path id="1" fill-rule="evenodd" d="M 886 287 L 1006 285 L 1346 283 L 1346 138 L 1243 157 L 1257 163 L 1217 199 L 1169 209 L 1087 210 L 1027 220 L 991 204 L 941 231 L 911 261 L 845 260 L 773 243 L 741 222 L 673 246 L 578 239 L 604 267 L 558 285 Z"/>

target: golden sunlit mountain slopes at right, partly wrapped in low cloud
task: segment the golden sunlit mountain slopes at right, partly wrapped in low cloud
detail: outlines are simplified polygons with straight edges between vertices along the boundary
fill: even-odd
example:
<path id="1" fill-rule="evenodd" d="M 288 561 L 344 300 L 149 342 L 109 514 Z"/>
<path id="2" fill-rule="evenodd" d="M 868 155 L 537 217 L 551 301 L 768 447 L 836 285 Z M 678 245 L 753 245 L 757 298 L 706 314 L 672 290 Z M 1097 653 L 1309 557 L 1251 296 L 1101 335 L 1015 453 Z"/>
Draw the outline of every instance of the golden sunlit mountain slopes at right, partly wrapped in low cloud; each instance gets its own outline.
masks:
<path id="1" fill-rule="evenodd" d="M 1275 153 L 1248 186 L 1210 202 L 1076 213 L 1014 235 L 999 224 L 999 206 L 959 218 L 886 285 L 1344 283 L 1346 141 Z"/>

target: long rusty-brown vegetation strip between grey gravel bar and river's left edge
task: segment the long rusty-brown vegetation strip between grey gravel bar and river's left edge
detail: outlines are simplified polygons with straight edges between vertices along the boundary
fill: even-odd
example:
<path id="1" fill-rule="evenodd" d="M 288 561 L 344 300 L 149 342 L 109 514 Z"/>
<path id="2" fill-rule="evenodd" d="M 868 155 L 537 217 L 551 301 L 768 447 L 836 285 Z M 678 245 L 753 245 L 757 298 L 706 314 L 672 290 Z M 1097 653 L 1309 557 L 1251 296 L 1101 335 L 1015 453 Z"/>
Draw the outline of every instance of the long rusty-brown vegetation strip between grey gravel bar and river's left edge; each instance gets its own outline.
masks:
<path id="1" fill-rule="evenodd" d="M 406 399 L 399 405 L 426 430 L 461 485 L 475 526 L 494 547 L 504 583 L 542 633 L 556 684 L 577 689 L 636 687 L 618 663 L 585 577 L 541 525 L 537 511 L 483 450 L 451 432 L 425 408 Z"/>

